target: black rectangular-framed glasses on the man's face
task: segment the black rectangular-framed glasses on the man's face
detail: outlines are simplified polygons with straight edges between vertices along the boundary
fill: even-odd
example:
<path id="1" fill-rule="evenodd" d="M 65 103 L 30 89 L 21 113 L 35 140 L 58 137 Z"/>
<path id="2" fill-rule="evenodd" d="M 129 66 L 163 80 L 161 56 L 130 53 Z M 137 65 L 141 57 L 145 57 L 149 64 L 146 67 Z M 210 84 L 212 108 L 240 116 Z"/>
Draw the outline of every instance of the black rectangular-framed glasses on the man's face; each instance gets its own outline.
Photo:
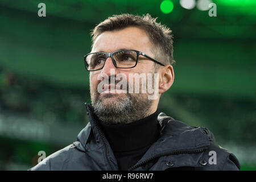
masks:
<path id="1" fill-rule="evenodd" d="M 112 58 L 112 63 L 114 64 L 115 68 L 134 68 L 138 63 L 139 55 L 147 57 L 155 63 L 164 66 L 164 64 L 160 63 L 158 60 L 155 60 L 148 55 L 145 55 L 143 52 L 122 49 L 114 52 L 88 53 L 84 56 L 85 69 L 87 71 L 97 71 L 102 69 L 108 57 Z"/>

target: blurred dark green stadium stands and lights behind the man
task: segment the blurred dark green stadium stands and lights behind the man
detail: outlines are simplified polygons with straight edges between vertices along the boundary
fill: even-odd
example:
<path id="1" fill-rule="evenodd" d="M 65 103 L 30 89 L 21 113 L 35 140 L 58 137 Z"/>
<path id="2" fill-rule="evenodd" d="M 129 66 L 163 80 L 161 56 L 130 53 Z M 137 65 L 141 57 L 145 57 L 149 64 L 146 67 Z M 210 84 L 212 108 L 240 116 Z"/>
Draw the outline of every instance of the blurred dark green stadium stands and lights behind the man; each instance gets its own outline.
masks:
<path id="1" fill-rule="evenodd" d="M 166 1 L 0 1 L 1 170 L 27 170 L 39 151 L 76 140 L 88 122 L 90 30 L 121 13 L 149 13 L 173 31 L 175 81 L 159 109 L 208 127 L 242 170 L 256 169 L 256 1 Z"/>

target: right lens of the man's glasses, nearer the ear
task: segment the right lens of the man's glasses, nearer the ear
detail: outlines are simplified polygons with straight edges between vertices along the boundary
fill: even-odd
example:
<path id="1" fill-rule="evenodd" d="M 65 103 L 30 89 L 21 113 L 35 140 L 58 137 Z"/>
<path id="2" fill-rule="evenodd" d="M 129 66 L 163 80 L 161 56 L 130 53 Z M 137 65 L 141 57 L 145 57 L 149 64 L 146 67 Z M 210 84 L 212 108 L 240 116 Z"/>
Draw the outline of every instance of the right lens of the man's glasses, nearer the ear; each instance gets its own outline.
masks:
<path id="1" fill-rule="evenodd" d="M 129 50 L 118 51 L 113 54 L 113 58 L 118 68 L 131 68 L 136 65 L 137 52 Z"/>

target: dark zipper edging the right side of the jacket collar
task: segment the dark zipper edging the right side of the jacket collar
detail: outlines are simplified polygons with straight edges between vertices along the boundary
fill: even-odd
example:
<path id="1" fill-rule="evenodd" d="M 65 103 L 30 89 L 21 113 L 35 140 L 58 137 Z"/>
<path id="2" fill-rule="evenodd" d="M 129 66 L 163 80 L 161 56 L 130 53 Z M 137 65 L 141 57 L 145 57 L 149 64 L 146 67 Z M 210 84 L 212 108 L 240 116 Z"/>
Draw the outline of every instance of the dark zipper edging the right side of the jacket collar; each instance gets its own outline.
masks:
<path id="1" fill-rule="evenodd" d="M 156 159 L 156 158 L 160 158 L 162 156 L 167 156 L 167 155 L 177 155 L 177 154 L 197 154 L 197 153 L 201 153 L 207 150 L 208 147 L 202 147 L 202 148 L 198 148 L 197 150 L 177 150 L 177 151 L 172 151 L 172 152 L 166 152 L 163 154 L 159 154 L 159 155 L 155 155 L 152 156 L 151 158 L 144 160 L 141 163 L 135 164 L 134 166 L 130 167 L 128 169 L 128 171 L 131 171 L 139 166 L 142 166 L 148 162 L 150 162 L 150 160 Z"/>

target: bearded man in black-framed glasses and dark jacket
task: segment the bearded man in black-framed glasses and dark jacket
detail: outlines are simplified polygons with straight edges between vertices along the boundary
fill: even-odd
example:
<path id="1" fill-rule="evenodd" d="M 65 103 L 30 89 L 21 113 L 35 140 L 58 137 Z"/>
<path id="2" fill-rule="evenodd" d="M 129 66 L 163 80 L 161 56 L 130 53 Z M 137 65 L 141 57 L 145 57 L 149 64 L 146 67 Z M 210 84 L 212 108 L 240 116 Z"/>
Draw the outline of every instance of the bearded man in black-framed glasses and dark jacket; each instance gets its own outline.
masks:
<path id="1" fill-rule="evenodd" d="M 240 169 L 207 128 L 159 112 L 160 96 L 174 82 L 169 28 L 148 14 L 122 14 L 98 24 L 92 36 L 92 51 L 84 58 L 89 123 L 76 142 L 30 170 Z"/>

